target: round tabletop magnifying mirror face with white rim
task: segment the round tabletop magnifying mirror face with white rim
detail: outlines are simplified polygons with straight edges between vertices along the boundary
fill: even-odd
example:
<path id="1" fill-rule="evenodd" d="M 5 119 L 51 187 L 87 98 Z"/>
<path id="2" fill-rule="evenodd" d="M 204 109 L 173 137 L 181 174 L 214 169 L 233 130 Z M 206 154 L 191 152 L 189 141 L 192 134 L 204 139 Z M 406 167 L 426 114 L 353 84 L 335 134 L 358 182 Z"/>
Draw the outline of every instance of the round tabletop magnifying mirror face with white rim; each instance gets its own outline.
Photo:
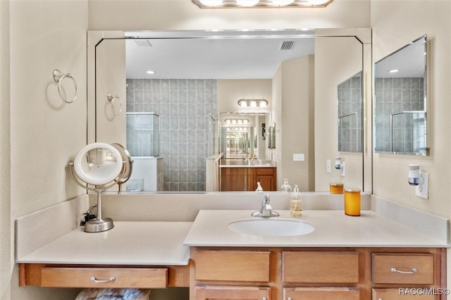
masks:
<path id="1" fill-rule="evenodd" d="M 123 160 L 119 151 L 110 144 L 92 143 L 77 152 L 73 167 L 87 184 L 106 185 L 121 174 Z"/>

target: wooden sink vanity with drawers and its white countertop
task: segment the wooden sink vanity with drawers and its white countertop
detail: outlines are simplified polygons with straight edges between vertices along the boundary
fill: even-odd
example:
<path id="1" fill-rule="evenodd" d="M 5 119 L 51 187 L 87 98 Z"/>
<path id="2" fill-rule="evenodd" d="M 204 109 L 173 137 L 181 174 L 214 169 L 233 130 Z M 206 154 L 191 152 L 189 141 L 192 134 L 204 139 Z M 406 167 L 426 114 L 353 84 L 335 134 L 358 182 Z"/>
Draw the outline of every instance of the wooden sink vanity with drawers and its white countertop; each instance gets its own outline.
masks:
<path id="1" fill-rule="evenodd" d="M 303 219 L 316 229 L 296 237 L 249 239 L 227 228 L 240 218 L 248 215 L 199 213 L 185 240 L 191 246 L 190 299 L 415 299 L 400 294 L 407 288 L 435 291 L 421 299 L 446 297 L 440 294 L 445 249 L 371 211 L 360 218 L 307 211 Z M 204 230 L 213 220 L 216 226 Z"/>

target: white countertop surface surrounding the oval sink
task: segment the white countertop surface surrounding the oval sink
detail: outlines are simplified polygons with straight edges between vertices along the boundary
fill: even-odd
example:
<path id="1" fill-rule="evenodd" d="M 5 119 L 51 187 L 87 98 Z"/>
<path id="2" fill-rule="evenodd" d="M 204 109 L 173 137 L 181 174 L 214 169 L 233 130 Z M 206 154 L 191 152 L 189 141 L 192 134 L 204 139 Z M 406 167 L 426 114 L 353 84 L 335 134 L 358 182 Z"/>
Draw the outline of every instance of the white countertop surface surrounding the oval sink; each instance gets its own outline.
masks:
<path id="1" fill-rule="evenodd" d="M 252 211 L 199 211 L 185 239 L 185 246 L 290 246 L 290 247 L 448 247 L 421 232 L 385 218 L 373 211 L 359 217 L 338 211 L 303 211 L 300 218 L 314 225 L 307 235 L 261 237 L 228 229 L 237 220 L 254 219 Z M 278 211 L 290 218 L 289 211 Z"/>

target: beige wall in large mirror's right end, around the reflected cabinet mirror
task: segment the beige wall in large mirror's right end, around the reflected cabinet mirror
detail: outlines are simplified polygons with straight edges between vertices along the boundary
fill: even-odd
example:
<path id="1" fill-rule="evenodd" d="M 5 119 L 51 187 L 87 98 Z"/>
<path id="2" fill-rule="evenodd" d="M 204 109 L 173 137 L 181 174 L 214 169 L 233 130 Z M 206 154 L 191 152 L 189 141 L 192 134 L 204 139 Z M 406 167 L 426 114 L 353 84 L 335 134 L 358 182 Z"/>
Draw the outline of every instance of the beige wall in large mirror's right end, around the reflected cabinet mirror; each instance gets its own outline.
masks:
<path id="1" fill-rule="evenodd" d="M 362 153 L 338 152 L 337 86 L 362 70 L 362 44 L 354 37 L 315 39 L 315 190 L 329 182 L 362 188 Z M 333 167 L 335 156 L 345 161 L 345 177 Z M 326 161 L 332 164 L 326 171 Z"/>

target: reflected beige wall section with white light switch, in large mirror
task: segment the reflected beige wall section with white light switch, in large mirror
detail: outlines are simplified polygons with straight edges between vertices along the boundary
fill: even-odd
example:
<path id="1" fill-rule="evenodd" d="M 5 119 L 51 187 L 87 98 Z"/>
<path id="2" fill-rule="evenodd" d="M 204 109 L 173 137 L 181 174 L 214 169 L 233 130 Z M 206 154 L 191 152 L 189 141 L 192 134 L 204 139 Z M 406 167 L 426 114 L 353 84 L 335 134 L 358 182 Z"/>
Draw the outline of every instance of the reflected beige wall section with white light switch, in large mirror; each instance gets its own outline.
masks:
<path id="1" fill-rule="evenodd" d="M 287 178 L 300 191 L 314 190 L 314 56 L 284 61 L 273 78 L 277 186 Z M 283 100 L 283 101 L 282 101 Z M 311 114 L 310 114 L 311 113 Z M 293 161 L 304 154 L 305 161 Z"/>

